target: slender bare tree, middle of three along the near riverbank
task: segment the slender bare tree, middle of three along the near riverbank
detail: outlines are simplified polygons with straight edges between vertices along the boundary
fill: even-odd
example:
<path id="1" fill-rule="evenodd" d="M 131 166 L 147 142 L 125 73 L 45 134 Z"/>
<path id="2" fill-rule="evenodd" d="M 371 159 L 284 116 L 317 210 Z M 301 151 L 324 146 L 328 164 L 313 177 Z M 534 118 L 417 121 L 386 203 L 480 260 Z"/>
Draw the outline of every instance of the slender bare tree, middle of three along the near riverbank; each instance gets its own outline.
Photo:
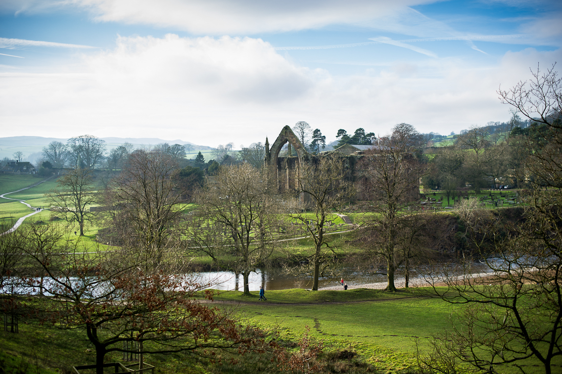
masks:
<path id="1" fill-rule="evenodd" d="M 346 161 L 345 158 L 326 156 L 301 165 L 298 184 L 304 201 L 301 209 L 291 213 L 290 217 L 300 222 L 314 240 L 314 253 L 310 258 L 314 267 L 312 291 L 318 291 L 320 273 L 329 266 L 334 255 L 334 248 L 324 237 L 328 224 L 337 218 L 332 211 L 341 209 L 355 196 L 355 188 L 345 171 L 348 169 Z"/>

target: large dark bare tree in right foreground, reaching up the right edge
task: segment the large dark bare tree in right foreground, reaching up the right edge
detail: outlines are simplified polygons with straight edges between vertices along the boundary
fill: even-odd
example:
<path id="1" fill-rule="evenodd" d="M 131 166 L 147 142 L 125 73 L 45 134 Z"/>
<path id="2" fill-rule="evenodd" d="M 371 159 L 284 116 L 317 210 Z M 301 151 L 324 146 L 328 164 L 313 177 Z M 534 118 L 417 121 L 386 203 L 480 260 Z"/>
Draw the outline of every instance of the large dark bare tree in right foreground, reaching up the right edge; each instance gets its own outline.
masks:
<path id="1" fill-rule="evenodd" d="M 527 143 L 526 166 L 535 177 L 529 180 L 535 188 L 522 196 L 525 212 L 513 224 L 483 219 L 475 199 L 461 210 L 465 237 L 492 273 L 473 276 L 470 259 L 461 263 L 460 271 L 433 272 L 441 275 L 430 277 L 434 285 L 430 293 L 465 306 L 463 316 L 440 342 L 433 341 L 429 358 L 420 357 L 428 370 L 438 370 L 439 365 L 441 370 L 455 370 L 458 362 L 468 362 L 483 372 L 510 365 L 527 373 L 531 371 L 525 361 L 533 358 L 550 374 L 562 357 L 562 193 L 559 188 L 541 188 L 562 186 L 561 80 L 554 66 L 543 75 L 537 68 L 532 75 L 530 82 L 519 82 L 507 91 L 500 88 L 498 93 L 502 102 L 543 125 L 540 137 Z M 488 259 L 487 246 L 495 259 Z M 437 283 L 446 287 L 436 287 Z M 439 357 L 446 357 L 446 362 Z"/>

